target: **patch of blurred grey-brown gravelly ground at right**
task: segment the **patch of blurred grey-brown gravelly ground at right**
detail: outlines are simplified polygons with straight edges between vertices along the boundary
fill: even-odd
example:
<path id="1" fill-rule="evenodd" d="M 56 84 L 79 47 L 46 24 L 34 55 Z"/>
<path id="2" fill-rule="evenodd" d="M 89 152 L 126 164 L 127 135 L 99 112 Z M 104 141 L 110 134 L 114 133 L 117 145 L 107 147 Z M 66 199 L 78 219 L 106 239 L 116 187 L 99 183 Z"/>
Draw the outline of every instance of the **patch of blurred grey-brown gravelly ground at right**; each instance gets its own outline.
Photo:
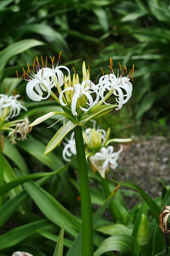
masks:
<path id="1" fill-rule="evenodd" d="M 152 198 L 160 196 L 163 184 L 170 185 L 170 137 L 134 138 L 123 149 L 115 178 L 135 183 Z M 138 193 L 127 196 L 128 206 L 133 206 L 139 198 Z"/>

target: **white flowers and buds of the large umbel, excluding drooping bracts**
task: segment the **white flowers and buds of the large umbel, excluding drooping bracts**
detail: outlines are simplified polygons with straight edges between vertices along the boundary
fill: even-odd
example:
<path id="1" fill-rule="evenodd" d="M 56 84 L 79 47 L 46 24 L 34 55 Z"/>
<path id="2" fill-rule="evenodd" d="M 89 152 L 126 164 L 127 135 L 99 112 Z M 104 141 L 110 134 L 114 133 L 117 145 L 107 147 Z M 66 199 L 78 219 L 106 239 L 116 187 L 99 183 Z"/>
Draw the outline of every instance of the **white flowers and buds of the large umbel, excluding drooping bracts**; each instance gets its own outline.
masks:
<path id="1" fill-rule="evenodd" d="M 59 60 L 60 56 L 61 52 L 59 54 Z M 100 98 L 104 104 L 109 104 L 105 102 L 107 99 L 107 97 L 105 97 L 106 91 L 110 91 L 111 94 L 113 93 L 117 96 L 117 109 L 120 109 L 132 95 L 132 84 L 130 83 L 129 77 L 130 74 L 132 74 L 133 80 L 134 66 L 128 76 L 123 76 L 127 73 L 126 66 L 119 76 L 119 70 L 121 70 L 121 64 L 119 63 L 118 74 L 115 76 L 113 71 L 113 62 L 110 58 L 110 74 L 104 75 L 103 72 L 103 76 L 99 78 L 99 83 L 95 85 L 90 80 L 89 68 L 86 70 L 85 62 L 83 62 L 82 82 L 79 81 L 79 75 L 76 74 L 75 70 L 73 81 L 71 82 L 69 69 L 66 66 L 58 66 L 59 61 L 55 66 L 54 57 L 51 58 L 51 68 L 47 67 L 47 57 L 45 63 L 43 62 L 42 57 L 41 60 L 42 66 L 40 66 L 38 57 L 36 56 L 36 60 L 34 59 L 33 70 L 30 68 L 29 64 L 27 72 L 23 68 L 24 74 L 22 78 L 28 81 L 26 86 L 26 93 L 28 97 L 34 101 L 41 101 L 47 99 L 51 95 L 59 102 L 59 104 L 61 104 L 61 106 L 66 106 L 67 109 L 69 108 L 72 116 L 79 116 L 82 111 L 88 112 L 88 110 L 99 103 Z M 63 71 L 61 71 L 64 69 L 67 71 L 67 76 L 64 76 Z M 61 87 L 63 84 L 64 88 L 62 90 Z M 53 87 L 57 88 L 59 98 L 53 95 L 51 91 Z M 93 99 L 91 94 L 94 94 L 95 99 Z M 109 94 L 109 96 L 111 94 Z M 63 109 L 66 110 L 66 108 Z M 66 113 L 67 112 L 68 111 L 66 111 Z"/>

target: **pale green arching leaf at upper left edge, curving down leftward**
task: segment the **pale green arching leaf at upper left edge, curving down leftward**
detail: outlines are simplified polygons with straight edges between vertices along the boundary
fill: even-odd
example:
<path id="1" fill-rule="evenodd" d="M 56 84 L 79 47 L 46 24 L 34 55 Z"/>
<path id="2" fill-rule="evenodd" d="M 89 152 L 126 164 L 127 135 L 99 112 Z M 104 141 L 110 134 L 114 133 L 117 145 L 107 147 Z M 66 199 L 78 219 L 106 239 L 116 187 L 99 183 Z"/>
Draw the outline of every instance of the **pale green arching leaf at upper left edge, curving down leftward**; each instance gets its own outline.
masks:
<path id="1" fill-rule="evenodd" d="M 15 42 L 9 46 L 7 46 L 4 50 L 2 50 L 0 52 L 0 78 L 2 78 L 2 71 L 6 65 L 6 63 L 8 62 L 8 60 L 10 60 L 10 58 L 12 58 L 13 56 L 24 52 L 32 47 L 35 46 L 39 46 L 44 44 L 43 42 L 40 42 L 38 40 L 35 39 L 25 39 L 25 40 L 21 40 L 19 42 Z"/>

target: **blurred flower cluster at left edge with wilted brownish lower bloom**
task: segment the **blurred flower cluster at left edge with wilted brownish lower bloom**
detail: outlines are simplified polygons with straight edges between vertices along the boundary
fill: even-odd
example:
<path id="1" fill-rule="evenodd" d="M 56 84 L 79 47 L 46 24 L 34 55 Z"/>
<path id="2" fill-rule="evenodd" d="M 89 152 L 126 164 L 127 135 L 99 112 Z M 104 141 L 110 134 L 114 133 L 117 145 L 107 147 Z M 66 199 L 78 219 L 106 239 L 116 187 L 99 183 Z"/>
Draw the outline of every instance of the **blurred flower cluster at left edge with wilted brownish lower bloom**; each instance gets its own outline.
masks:
<path id="1" fill-rule="evenodd" d="M 32 130 L 29 127 L 28 117 L 9 121 L 18 116 L 21 109 L 27 111 L 27 108 L 18 100 L 19 97 L 19 94 L 11 96 L 0 94 L 0 132 L 8 132 L 8 137 L 13 144 L 16 144 L 16 140 L 26 139 L 27 134 Z"/>

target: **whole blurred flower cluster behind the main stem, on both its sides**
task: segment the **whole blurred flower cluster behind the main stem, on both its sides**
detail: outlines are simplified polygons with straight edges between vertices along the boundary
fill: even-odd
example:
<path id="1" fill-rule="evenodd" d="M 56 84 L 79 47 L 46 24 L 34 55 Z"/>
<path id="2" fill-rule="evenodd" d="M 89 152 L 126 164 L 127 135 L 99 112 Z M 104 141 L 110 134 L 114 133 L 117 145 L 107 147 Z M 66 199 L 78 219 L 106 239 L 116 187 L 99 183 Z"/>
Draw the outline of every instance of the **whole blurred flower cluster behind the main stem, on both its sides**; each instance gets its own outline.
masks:
<path id="1" fill-rule="evenodd" d="M 112 139 L 108 140 L 110 134 L 110 129 L 107 132 L 103 129 L 95 129 L 95 122 L 93 128 L 87 128 L 83 132 L 83 138 L 86 147 L 86 157 L 89 159 L 93 171 L 96 170 L 99 172 L 102 178 L 105 178 L 105 174 L 109 171 L 109 169 L 116 169 L 118 164 L 117 160 L 119 158 L 119 154 L 123 150 L 123 146 L 121 145 L 120 150 L 114 152 L 113 146 L 108 146 L 108 142 L 129 142 L 131 139 Z M 67 143 L 64 144 L 63 149 L 63 158 L 66 161 L 70 161 L 69 158 L 71 155 L 76 155 L 76 147 L 75 147 L 75 139 L 74 132 L 71 134 L 70 140 L 66 139 Z"/>

